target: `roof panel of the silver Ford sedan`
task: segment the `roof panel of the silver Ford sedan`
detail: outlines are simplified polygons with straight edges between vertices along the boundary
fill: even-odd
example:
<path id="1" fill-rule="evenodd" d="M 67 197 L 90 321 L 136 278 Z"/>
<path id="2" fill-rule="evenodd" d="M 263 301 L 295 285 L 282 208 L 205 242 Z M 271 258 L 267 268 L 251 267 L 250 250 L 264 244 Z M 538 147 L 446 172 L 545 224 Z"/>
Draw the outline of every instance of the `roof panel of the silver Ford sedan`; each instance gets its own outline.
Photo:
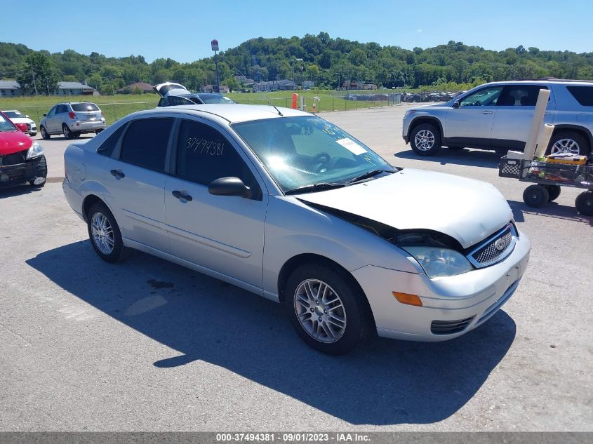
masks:
<path id="1" fill-rule="evenodd" d="M 278 114 L 278 111 L 271 105 L 244 105 L 239 103 L 234 104 L 204 104 L 204 105 L 176 105 L 173 107 L 164 107 L 149 109 L 148 111 L 140 111 L 134 113 L 133 116 L 139 117 L 147 114 L 154 113 L 178 113 L 180 111 L 194 114 L 196 116 L 204 116 L 204 114 L 218 116 L 225 119 L 229 123 L 238 123 L 262 119 L 274 119 L 280 117 L 293 117 L 293 116 L 311 116 L 307 112 L 299 111 L 298 109 L 277 107 L 282 113 L 282 116 Z"/>

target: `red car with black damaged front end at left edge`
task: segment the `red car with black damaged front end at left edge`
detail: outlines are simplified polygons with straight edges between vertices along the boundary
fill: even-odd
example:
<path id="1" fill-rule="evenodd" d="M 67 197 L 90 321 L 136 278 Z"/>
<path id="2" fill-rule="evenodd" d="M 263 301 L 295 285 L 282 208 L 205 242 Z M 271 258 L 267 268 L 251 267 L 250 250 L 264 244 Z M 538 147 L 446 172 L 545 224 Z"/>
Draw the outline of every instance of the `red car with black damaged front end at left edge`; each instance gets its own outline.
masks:
<path id="1" fill-rule="evenodd" d="M 47 177 L 44 149 L 0 112 L 0 189 L 29 182 L 43 187 Z"/>

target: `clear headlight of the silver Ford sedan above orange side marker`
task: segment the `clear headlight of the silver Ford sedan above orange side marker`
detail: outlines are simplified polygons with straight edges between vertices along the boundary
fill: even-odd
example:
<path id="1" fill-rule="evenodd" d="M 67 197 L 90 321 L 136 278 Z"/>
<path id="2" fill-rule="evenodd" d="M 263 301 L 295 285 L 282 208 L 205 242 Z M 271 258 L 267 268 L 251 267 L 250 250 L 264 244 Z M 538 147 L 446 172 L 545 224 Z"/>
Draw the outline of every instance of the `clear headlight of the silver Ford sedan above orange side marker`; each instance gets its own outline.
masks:
<path id="1" fill-rule="evenodd" d="M 469 260 L 455 250 L 438 247 L 402 247 L 422 266 L 429 278 L 455 276 L 473 269 Z"/>

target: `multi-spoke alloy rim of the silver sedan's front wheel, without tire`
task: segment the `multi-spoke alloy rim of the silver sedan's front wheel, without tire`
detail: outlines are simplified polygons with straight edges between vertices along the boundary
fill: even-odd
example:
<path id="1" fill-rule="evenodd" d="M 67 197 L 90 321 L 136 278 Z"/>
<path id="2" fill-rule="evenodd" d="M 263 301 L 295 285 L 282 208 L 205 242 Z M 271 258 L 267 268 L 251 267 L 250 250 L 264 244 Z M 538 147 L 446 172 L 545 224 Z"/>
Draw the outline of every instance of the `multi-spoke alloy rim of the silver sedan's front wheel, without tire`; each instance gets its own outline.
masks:
<path id="1" fill-rule="evenodd" d="M 302 328 L 317 341 L 331 344 L 344 335 L 344 304 L 338 293 L 324 281 L 302 281 L 295 291 L 294 308 Z"/>

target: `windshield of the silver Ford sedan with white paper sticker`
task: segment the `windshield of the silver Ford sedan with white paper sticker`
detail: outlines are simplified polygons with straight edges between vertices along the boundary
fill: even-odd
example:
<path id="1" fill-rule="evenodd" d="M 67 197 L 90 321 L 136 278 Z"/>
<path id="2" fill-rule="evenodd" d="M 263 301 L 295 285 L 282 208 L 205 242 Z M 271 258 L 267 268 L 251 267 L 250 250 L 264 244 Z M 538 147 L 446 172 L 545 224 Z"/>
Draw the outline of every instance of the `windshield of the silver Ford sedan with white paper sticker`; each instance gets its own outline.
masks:
<path id="1" fill-rule="evenodd" d="M 394 168 L 333 123 L 313 116 L 234 123 L 279 187 L 347 184 L 373 170 Z"/>

